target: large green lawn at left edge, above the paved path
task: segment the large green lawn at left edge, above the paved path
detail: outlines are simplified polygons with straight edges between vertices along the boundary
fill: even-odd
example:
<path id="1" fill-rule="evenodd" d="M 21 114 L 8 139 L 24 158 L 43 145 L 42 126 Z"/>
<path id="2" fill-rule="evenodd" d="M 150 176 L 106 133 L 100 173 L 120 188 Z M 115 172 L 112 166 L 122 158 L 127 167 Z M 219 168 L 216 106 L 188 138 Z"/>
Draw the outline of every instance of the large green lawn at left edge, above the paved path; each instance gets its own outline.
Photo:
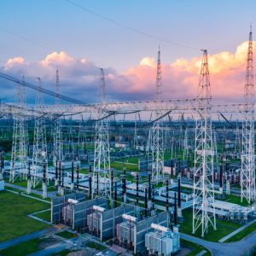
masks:
<path id="1" fill-rule="evenodd" d="M 27 214 L 49 208 L 49 204 L 8 191 L 0 192 L 0 241 L 9 240 L 49 225 L 27 217 Z"/>

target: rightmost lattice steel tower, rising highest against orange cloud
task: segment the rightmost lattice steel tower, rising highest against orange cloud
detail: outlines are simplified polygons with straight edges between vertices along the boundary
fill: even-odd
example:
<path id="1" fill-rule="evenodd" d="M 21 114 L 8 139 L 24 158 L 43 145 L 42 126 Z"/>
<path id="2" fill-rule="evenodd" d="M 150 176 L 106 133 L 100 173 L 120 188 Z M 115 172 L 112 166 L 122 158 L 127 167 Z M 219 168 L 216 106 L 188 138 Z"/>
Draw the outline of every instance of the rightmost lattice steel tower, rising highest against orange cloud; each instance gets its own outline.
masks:
<path id="1" fill-rule="evenodd" d="M 241 201 L 255 200 L 255 160 L 254 160 L 254 85 L 253 85 L 253 32 L 249 33 L 247 49 L 246 83 L 244 86 L 244 119 L 242 123 L 241 149 Z"/>

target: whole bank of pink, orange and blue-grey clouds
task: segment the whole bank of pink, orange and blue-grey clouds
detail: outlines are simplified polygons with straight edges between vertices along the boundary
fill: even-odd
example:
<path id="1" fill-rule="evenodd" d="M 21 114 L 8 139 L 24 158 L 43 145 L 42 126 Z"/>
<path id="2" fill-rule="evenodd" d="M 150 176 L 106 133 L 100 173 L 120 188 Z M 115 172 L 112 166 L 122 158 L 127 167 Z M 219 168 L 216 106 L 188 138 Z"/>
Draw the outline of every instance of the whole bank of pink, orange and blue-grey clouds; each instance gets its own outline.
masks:
<path id="1" fill-rule="evenodd" d="M 256 43 L 253 42 L 256 49 Z M 234 53 L 222 51 L 208 55 L 212 99 L 216 102 L 242 102 L 247 58 L 247 42 L 237 46 Z M 99 84 L 99 68 L 86 58 L 74 58 L 65 51 L 53 52 L 43 60 L 28 63 L 22 57 L 6 61 L 3 71 L 35 83 L 40 76 L 43 86 L 55 90 L 55 68 L 60 71 L 61 93 L 84 102 L 96 102 Z M 18 69 L 19 68 L 19 69 Z M 162 63 L 163 98 L 195 97 L 201 68 L 201 55 L 179 58 L 172 63 Z M 137 101 L 154 99 L 156 63 L 154 57 L 144 57 L 136 67 L 117 73 L 112 67 L 104 68 L 106 92 L 111 101 Z M 9 96 L 9 88 L 3 85 L 2 95 Z M 11 86 L 11 84 L 9 84 Z M 4 90 L 6 89 L 6 90 Z M 31 102 L 34 94 L 30 92 Z"/>

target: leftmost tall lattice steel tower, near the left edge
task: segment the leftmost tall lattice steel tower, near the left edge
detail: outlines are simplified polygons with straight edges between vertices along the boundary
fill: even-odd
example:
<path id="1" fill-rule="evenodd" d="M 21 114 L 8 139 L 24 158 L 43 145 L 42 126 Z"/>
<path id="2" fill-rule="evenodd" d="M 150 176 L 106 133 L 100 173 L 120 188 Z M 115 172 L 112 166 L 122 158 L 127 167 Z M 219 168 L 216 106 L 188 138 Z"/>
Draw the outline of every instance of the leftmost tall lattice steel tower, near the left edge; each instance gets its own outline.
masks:
<path id="1" fill-rule="evenodd" d="M 23 82 L 24 77 L 23 77 Z M 14 182 L 16 177 L 26 177 L 28 167 L 27 157 L 27 125 L 23 109 L 26 105 L 25 86 L 16 85 L 15 103 L 19 107 L 14 113 L 13 146 L 10 162 L 9 181 Z"/>

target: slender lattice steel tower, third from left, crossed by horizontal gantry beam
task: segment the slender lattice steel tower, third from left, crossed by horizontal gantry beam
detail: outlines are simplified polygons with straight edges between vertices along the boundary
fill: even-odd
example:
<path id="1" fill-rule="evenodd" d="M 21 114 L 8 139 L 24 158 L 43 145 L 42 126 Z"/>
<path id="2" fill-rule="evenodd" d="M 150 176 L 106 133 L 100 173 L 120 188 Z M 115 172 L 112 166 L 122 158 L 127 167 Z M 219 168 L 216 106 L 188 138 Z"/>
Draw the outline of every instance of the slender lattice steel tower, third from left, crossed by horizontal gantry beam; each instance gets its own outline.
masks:
<path id="1" fill-rule="evenodd" d="M 59 70 L 56 70 L 56 84 L 55 84 L 56 96 L 55 96 L 55 106 L 56 108 L 60 105 L 60 99 L 58 95 L 60 94 L 60 78 Z M 62 141 L 62 125 L 61 118 L 55 117 L 55 134 L 54 134 L 54 157 L 53 163 L 56 161 L 61 162 L 63 160 L 63 141 Z"/>

